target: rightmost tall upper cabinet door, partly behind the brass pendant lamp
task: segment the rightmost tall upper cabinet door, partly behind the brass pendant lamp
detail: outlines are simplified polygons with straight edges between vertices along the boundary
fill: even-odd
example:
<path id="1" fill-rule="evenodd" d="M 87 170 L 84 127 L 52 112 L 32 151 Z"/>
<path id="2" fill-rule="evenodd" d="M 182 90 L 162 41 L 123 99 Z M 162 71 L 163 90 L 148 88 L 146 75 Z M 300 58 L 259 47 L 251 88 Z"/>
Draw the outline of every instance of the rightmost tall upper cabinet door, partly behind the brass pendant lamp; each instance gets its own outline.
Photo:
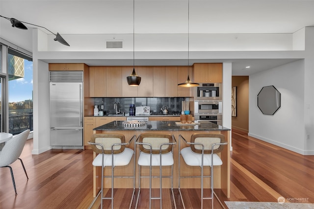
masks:
<path id="1" fill-rule="evenodd" d="M 178 66 L 178 84 L 184 83 L 187 79 L 187 75 L 190 75 L 190 79 L 192 79 L 191 73 L 189 73 L 191 71 L 192 70 L 190 66 Z M 192 89 L 193 88 L 184 88 L 177 85 L 178 96 L 192 97 Z"/>

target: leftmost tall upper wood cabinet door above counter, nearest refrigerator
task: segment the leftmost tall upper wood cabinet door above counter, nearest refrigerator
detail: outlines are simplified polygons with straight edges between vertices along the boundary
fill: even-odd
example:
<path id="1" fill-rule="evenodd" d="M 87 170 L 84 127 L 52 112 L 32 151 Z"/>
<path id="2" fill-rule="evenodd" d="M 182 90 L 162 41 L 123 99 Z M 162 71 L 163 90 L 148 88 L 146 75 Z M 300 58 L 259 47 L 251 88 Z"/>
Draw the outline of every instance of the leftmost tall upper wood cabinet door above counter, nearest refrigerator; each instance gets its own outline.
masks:
<path id="1" fill-rule="evenodd" d="M 106 96 L 106 67 L 91 66 L 89 67 L 89 96 L 105 97 Z"/>

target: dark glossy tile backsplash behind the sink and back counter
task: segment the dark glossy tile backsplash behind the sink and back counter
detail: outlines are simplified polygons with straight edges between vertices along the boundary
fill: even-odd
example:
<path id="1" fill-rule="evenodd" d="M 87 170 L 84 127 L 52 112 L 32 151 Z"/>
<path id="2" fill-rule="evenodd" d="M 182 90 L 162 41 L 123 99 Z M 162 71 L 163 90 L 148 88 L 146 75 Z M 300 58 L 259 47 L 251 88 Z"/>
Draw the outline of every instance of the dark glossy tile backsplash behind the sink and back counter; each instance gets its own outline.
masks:
<path id="1" fill-rule="evenodd" d="M 162 113 L 163 106 L 168 106 L 169 113 L 180 113 L 182 110 L 182 101 L 185 97 L 128 97 L 128 98 L 94 98 L 94 105 L 98 105 L 100 111 L 105 114 L 114 114 L 114 103 L 120 102 L 121 113 L 129 113 L 131 104 L 137 106 L 150 106 L 151 112 Z M 104 109 L 101 106 L 104 105 Z M 91 107 L 94 108 L 94 107 Z"/>

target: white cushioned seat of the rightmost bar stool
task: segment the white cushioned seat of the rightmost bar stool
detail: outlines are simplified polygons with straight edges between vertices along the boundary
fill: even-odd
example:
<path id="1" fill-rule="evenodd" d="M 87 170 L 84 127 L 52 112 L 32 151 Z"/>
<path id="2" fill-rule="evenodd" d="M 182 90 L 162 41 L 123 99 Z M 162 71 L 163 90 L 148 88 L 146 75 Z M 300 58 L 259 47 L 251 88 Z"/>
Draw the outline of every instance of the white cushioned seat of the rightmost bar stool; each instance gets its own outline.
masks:
<path id="1" fill-rule="evenodd" d="M 181 150 L 181 155 L 184 162 L 190 166 L 202 165 L 202 154 L 198 154 L 192 151 L 191 147 L 185 147 Z M 211 155 L 204 154 L 204 166 L 211 166 Z M 222 161 L 217 154 L 213 154 L 213 165 L 222 165 Z"/>

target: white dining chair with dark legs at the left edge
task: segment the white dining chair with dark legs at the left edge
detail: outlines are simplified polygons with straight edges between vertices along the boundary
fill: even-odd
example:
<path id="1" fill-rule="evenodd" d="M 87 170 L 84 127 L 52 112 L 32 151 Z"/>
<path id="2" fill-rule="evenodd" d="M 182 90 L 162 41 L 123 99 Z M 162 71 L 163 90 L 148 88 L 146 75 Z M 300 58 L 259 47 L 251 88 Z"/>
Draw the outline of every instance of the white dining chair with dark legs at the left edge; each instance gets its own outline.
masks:
<path id="1" fill-rule="evenodd" d="M 24 163 L 22 159 L 20 158 L 20 156 L 23 151 L 29 132 L 30 130 L 25 130 L 24 132 L 14 136 L 12 139 L 6 141 L 5 145 L 3 146 L 0 152 L 0 167 L 10 168 L 15 195 L 17 195 L 17 192 L 16 192 L 15 181 L 14 181 L 14 175 L 13 175 L 12 167 L 9 165 L 19 159 L 24 169 L 26 178 L 28 179 Z"/>

